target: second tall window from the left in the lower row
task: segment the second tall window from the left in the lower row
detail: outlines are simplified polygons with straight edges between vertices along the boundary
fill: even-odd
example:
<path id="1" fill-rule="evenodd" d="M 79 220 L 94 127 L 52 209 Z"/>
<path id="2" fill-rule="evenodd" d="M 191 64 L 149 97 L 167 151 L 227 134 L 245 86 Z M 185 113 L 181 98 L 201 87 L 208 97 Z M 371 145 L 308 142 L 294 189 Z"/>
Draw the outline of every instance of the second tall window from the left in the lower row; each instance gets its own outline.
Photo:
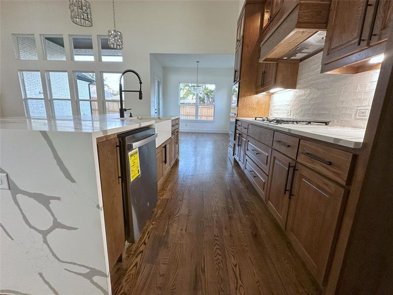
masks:
<path id="1" fill-rule="evenodd" d="M 47 79 L 55 117 L 72 116 L 67 72 L 47 72 Z"/>

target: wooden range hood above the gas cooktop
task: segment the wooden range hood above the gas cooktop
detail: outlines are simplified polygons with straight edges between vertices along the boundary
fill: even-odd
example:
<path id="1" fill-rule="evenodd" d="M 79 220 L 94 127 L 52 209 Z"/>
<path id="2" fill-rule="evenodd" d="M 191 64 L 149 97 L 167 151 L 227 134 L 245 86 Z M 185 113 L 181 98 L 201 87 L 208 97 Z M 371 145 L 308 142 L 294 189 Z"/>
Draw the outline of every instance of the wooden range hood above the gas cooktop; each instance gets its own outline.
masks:
<path id="1" fill-rule="evenodd" d="M 259 62 L 302 61 L 322 51 L 331 0 L 266 1 Z"/>

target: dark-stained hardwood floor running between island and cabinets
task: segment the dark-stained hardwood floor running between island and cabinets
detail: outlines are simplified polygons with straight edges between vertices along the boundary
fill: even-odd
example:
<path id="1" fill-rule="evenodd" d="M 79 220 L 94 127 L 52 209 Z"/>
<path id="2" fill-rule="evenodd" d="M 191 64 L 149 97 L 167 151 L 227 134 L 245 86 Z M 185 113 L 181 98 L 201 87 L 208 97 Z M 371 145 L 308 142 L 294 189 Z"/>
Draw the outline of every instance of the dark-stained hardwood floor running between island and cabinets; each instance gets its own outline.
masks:
<path id="1" fill-rule="evenodd" d="M 113 294 L 320 294 L 227 143 L 227 134 L 180 134 L 180 160 L 114 266 Z"/>

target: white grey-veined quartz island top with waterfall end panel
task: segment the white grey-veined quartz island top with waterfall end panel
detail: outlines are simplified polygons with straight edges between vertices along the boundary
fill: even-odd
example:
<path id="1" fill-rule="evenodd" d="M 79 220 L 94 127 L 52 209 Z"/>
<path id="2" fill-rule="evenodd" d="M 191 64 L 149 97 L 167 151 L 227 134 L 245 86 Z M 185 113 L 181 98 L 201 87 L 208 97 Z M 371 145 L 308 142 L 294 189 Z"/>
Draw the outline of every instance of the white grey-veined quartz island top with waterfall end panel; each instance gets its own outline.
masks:
<path id="1" fill-rule="evenodd" d="M 111 294 L 97 139 L 157 123 L 0 118 L 0 293 Z"/>

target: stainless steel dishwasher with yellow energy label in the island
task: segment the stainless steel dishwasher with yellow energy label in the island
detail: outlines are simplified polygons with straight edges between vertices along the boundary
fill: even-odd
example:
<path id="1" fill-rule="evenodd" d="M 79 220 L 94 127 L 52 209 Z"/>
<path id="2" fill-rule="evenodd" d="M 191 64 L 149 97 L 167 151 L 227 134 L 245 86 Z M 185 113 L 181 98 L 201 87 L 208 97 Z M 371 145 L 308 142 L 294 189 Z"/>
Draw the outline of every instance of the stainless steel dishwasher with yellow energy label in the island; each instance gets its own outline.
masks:
<path id="1" fill-rule="evenodd" d="M 156 137 L 154 128 L 119 134 L 121 187 L 126 239 L 134 243 L 157 204 Z"/>

